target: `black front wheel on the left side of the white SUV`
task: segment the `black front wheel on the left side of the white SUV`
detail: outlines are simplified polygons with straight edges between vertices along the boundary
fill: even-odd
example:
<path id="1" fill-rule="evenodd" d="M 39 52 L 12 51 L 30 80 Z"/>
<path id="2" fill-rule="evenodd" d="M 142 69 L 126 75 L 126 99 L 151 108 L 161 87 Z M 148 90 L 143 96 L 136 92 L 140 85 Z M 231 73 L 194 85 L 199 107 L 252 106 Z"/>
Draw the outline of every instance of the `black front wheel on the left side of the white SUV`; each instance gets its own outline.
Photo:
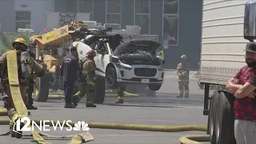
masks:
<path id="1" fill-rule="evenodd" d="M 113 66 L 106 69 L 106 85 L 110 89 L 118 88 L 117 72 Z"/>

